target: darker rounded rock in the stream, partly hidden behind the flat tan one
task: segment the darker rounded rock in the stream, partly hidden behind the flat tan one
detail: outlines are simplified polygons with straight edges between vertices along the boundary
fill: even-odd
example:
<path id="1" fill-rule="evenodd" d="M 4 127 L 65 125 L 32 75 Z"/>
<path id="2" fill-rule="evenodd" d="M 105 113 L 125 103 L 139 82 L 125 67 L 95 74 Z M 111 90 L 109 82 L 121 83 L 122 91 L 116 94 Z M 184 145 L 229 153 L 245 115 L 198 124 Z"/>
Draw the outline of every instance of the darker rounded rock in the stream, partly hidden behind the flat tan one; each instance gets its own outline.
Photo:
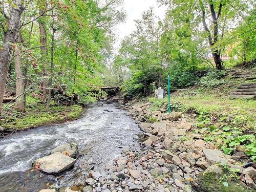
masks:
<path id="1" fill-rule="evenodd" d="M 54 154 L 55 152 L 63 153 L 71 158 L 76 158 L 79 154 L 78 152 L 78 144 L 77 143 L 67 143 L 54 148 L 50 154 Z"/>

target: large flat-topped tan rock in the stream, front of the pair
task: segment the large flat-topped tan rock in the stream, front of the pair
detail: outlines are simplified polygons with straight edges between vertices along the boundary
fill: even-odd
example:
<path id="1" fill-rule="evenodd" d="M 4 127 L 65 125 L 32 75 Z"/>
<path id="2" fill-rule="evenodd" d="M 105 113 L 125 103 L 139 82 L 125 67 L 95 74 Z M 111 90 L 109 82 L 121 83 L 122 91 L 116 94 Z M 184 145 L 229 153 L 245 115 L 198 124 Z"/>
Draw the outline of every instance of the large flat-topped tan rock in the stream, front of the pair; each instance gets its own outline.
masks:
<path id="1" fill-rule="evenodd" d="M 48 174 L 58 174 L 74 165 L 76 159 L 56 152 L 49 156 L 36 159 L 33 164 L 39 164 L 39 170 Z"/>

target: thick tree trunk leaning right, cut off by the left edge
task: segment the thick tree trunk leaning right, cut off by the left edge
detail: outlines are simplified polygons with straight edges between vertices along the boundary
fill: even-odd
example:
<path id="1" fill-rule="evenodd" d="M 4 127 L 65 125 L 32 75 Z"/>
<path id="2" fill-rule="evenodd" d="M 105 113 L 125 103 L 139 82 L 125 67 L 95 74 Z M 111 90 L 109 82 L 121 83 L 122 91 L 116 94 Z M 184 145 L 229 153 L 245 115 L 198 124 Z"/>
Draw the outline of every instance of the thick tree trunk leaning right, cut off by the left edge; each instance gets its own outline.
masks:
<path id="1" fill-rule="evenodd" d="M 14 0 L 8 28 L 4 37 L 3 49 L 0 52 L 0 114 L 2 112 L 3 97 L 5 91 L 5 83 L 8 75 L 9 65 L 12 60 L 12 52 L 19 25 L 20 16 L 24 10 L 22 0 Z"/>

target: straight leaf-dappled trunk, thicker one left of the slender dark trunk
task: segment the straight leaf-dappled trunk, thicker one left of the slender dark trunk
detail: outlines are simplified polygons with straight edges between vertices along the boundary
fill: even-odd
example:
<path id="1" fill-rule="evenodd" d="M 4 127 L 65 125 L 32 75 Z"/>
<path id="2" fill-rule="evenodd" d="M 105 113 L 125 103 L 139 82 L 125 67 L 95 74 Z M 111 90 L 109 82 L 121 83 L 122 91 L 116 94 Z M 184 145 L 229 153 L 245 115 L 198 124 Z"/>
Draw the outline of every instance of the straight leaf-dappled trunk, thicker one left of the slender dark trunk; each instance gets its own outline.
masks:
<path id="1" fill-rule="evenodd" d="M 45 74 L 47 72 L 47 66 L 48 66 L 48 50 L 47 50 L 47 33 L 46 33 L 46 25 L 44 22 L 45 15 L 44 12 L 46 11 L 47 3 L 46 1 L 42 3 L 42 8 L 39 9 L 39 15 L 42 15 L 41 18 L 39 18 L 39 32 L 40 32 L 40 44 L 41 44 L 41 61 L 42 61 L 42 72 Z M 42 87 L 44 88 L 44 93 L 47 94 L 48 90 L 45 89 L 48 86 L 48 82 L 44 80 L 42 83 Z"/>

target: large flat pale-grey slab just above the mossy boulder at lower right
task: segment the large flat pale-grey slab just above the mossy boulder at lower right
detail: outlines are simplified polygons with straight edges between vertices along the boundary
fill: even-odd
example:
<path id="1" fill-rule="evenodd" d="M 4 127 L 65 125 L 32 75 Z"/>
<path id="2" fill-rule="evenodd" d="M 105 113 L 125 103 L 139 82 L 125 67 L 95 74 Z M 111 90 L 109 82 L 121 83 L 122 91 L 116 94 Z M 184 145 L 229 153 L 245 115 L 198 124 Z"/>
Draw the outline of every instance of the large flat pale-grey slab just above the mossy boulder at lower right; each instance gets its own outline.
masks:
<path id="1" fill-rule="evenodd" d="M 207 148 L 203 148 L 203 153 L 206 160 L 210 164 L 216 164 L 216 163 L 228 164 L 228 160 L 227 160 L 228 157 L 219 150 L 208 150 Z"/>

